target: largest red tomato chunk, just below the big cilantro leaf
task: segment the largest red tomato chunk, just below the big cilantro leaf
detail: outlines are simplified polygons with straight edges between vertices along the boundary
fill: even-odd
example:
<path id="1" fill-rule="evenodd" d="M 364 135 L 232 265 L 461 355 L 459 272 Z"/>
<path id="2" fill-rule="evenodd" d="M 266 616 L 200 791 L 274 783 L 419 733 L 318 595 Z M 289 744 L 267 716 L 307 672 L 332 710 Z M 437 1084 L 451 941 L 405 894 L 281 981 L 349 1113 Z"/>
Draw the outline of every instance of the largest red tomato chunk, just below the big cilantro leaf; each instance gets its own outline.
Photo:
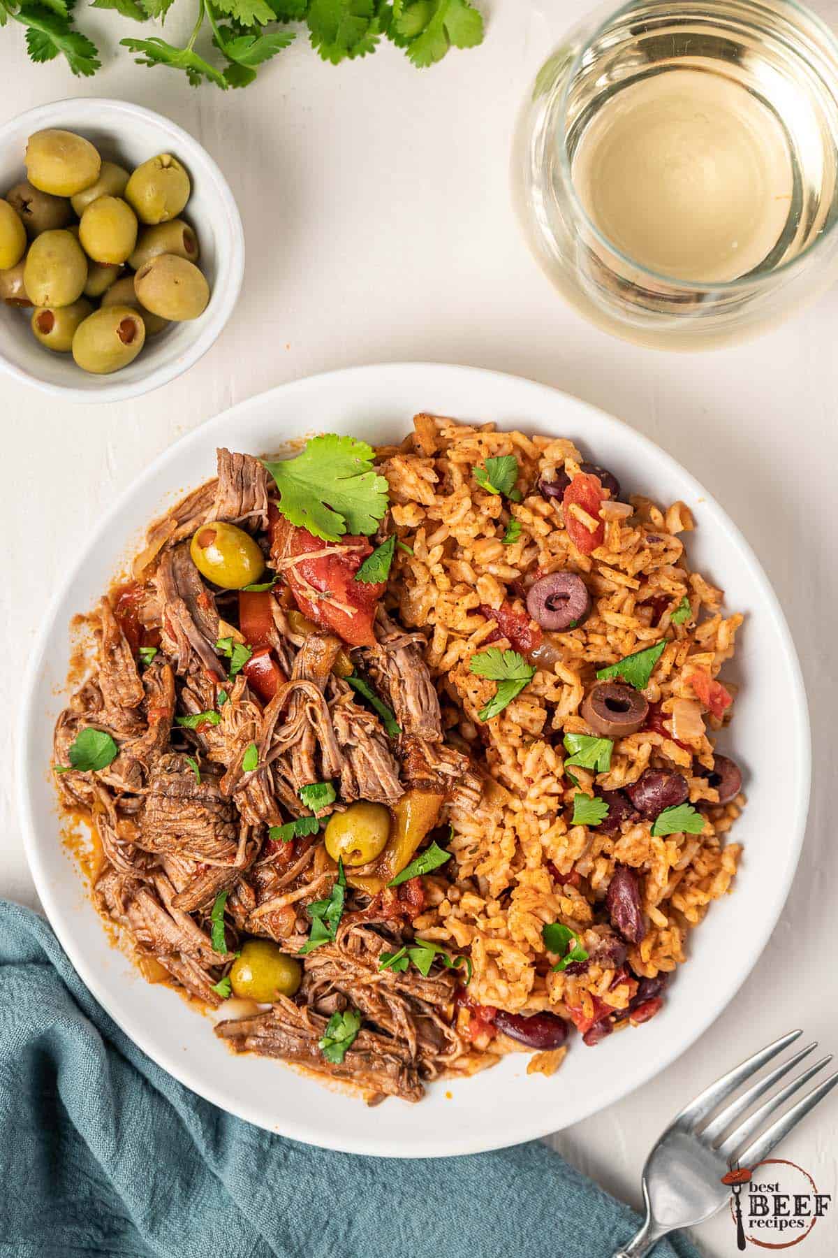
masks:
<path id="1" fill-rule="evenodd" d="M 369 541 L 346 536 L 339 542 L 324 542 L 308 528 L 295 528 L 275 508 L 271 508 L 270 528 L 274 555 L 317 552 L 317 557 L 304 559 L 285 571 L 303 615 L 330 629 L 351 647 L 373 647 L 376 637 L 372 625 L 387 582 L 354 580 L 363 561 L 372 555 Z M 327 598 L 312 598 L 310 591 Z"/>

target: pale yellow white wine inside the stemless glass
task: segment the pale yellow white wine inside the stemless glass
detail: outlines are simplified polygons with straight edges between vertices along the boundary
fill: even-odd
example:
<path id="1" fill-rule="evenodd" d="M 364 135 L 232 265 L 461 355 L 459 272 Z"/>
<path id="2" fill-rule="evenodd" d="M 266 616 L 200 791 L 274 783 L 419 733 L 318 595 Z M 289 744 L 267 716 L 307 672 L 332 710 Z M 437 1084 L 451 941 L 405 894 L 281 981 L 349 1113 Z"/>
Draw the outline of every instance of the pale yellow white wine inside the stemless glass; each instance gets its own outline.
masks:
<path id="1" fill-rule="evenodd" d="M 751 92 L 714 70 L 668 69 L 603 104 L 572 179 L 588 218 L 633 262 L 719 283 L 770 254 L 794 172 L 780 121 Z"/>

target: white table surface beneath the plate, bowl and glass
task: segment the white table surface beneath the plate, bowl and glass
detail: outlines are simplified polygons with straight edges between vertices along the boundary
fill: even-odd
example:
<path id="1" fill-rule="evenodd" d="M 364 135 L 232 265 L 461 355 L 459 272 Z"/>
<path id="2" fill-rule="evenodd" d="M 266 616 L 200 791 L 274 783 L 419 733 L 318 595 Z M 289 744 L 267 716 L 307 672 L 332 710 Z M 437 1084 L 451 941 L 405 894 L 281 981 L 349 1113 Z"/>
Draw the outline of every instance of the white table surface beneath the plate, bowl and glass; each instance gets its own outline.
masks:
<path id="1" fill-rule="evenodd" d="M 711 355 L 638 350 L 582 322 L 519 237 L 508 153 L 530 70 L 562 24 L 588 6 L 568 0 L 552 24 L 545 19 L 552 0 L 490 0 L 482 8 L 490 14 L 482 48 L 452 53 L 431 70 L 415 70 L 389 47 L 334 68 L 300 39 L 254 87 L 225 94 L 191 89 L 162 68 L 133 67 L 123 50 L 113 57 L 131 24 L 111 14 L 84 10 L 84 24 L 102 34 L 107 50 L 106 68 L 93 81 L 74 79 L 60 59 L 31 65 L 21 29 L 0 31 L 0 122 L 75 94 L 158 109 L 219 161 L 239 199 L 248 243 L 234 318 L 202 362 L 167 387 L 119 406 L 82 408 L 0 376 L 0 762 L 6 766 L 0 893 L 36 905 L 11 790 L 10 731 L 26 644 L 65 559 L 160 450 L 232 403 L 352 364 L 464 362 L 577 394 L 658 442 L 741 527 L 790 621 L 814 737 L 815 784 L 800 868 L 739 999 L 653 1083 L 550 1140 L 638 1205 L 652 1141 L 710 1079 L 794 1025 L 824 1048 L 838 1048 L 838 289 L 763 340 Z M 838 3 L 820 4 L 819 11 L 838 19 Z M 167 38 L 175 40 L 190 21 L 175 13 Z M 705 928 L 712 930 L 712 912 Z M 560 1087 L 554 1096 L 558 1123 Z M 833 1194 L 832 1218 L 807 1240 L 808 1258 L 838 1252 L 837 1147 L 833 1093 L 784 1146 L 784 1156 Z M 734 1253 L 724 1214 L 699 1229 L 696 1240 L 717 1258 Z"/>

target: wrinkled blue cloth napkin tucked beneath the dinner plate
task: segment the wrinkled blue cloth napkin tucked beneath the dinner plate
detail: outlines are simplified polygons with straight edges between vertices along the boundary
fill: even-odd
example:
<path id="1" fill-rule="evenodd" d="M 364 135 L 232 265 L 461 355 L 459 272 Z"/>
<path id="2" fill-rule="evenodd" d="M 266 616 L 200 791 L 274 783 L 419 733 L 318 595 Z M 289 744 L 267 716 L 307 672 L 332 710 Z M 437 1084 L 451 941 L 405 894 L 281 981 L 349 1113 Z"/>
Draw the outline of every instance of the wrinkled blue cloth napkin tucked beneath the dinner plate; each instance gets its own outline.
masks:
<path id="1" fill-rule="evenodd" d="M 638 1224 L 543 1145 L 353 1157 L 230 1117 L 150 1062 L 46 922 L 3 899 L 0 1009 L 4 1258 L 611 1258 Z M 655 1250 L 673 1255 L 699 1258 L 683 1238 Z"/>

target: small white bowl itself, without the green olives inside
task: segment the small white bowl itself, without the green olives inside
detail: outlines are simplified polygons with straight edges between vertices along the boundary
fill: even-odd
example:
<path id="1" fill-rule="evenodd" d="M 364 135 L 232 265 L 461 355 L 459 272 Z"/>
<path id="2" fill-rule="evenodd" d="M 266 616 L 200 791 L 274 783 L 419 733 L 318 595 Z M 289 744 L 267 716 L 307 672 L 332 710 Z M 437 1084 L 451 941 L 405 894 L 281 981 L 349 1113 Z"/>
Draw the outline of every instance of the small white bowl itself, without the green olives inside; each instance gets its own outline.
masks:
<path id="1" fill-rule="evenodd" d="M 171 152 L 188 171 L 192 195 L 183 216 L 197 233 L 200 265 L 211 293 L 200 318 L 171 323 L 122 371 L 92 376 L 75 366 L 70 353 L 52 353 L 35 341 L 29 327 L 31 311 L 0 304 L 0 366 L 10 375 L 65 401 L 137 398 L 187 371 L 230 318 L 245 269 L 244 230 L 236 203 L 210 155 L 182 127 L 128 101 L 97 97 L 43 104 L 0 127 L 0 195 L 26 177 L 26 140 L 45 127 L 78 131 L 103 157 L 128 170 L 157 153 Z"/>

